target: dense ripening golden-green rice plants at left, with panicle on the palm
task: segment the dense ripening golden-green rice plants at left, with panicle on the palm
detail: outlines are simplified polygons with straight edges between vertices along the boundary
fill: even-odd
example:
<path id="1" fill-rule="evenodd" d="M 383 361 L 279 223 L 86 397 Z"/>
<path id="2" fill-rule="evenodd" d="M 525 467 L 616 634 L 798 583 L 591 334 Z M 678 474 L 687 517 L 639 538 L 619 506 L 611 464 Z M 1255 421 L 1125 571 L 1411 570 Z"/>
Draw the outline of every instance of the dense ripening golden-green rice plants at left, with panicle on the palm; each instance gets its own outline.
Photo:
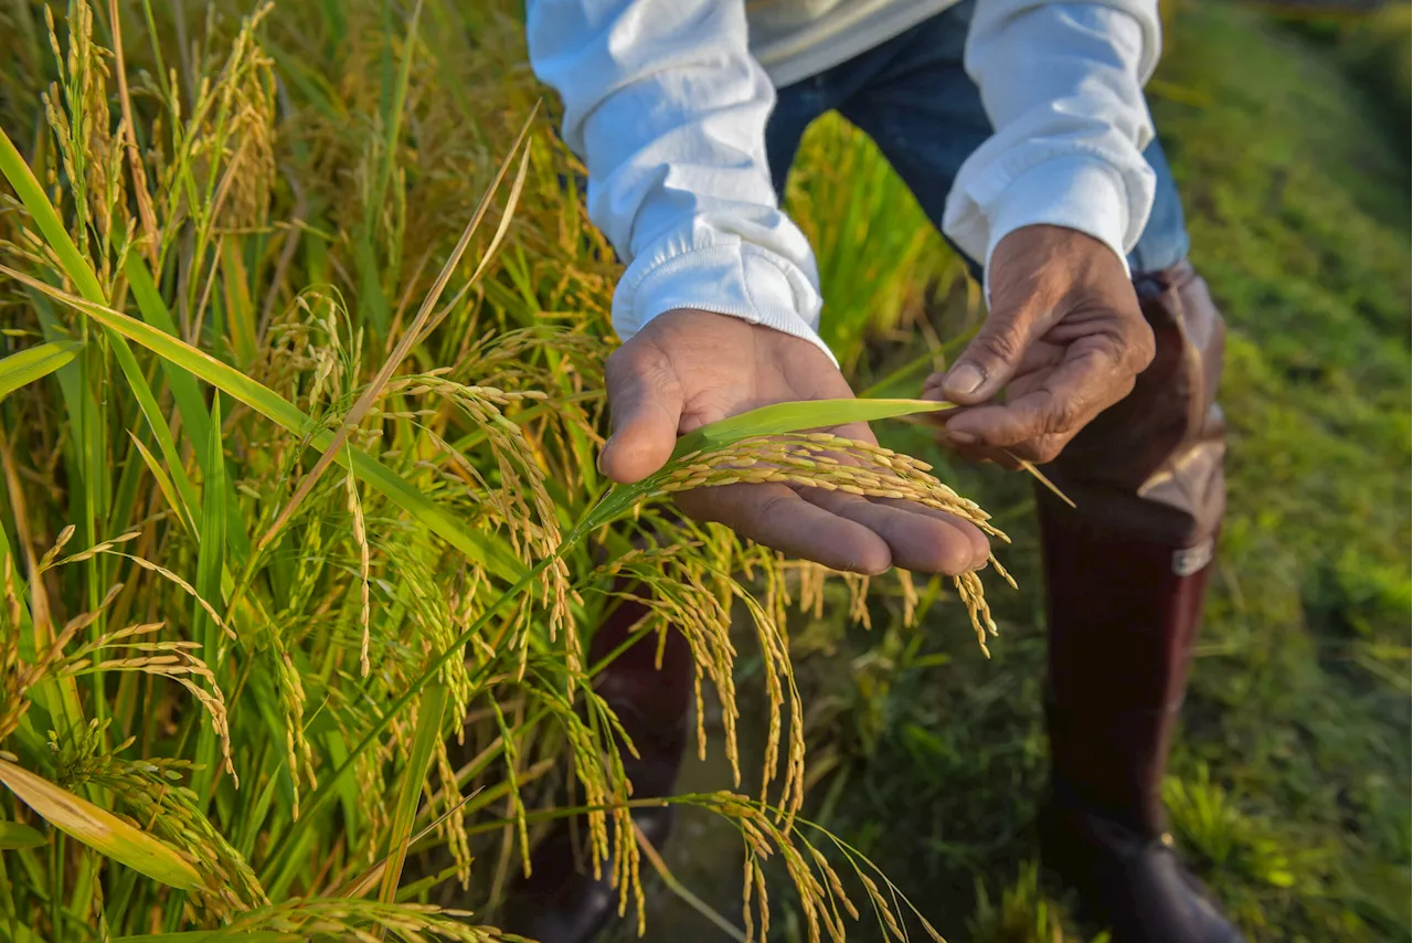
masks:
<path id="1" fill-rule="evenodd" d="M 861 910 L 900 933 L 896 889 L 797 816 L 783 622 L 824 574 L 666 502 L 767 475 L 985 513 L 801 434 L 839 404 L 598 475 L 616 269 L 513 16 L 55 10 L 8 3 L 0 40 L 0 937 L 500 939 L 507 868 L 567 814 L 642 932 L 647 800 L 584 662 L 623 574 L 733 763 L 750 614 L 766 772 L 677 800 L 740 830 L 747 936 L 767 858 L 811 939 Z"/>

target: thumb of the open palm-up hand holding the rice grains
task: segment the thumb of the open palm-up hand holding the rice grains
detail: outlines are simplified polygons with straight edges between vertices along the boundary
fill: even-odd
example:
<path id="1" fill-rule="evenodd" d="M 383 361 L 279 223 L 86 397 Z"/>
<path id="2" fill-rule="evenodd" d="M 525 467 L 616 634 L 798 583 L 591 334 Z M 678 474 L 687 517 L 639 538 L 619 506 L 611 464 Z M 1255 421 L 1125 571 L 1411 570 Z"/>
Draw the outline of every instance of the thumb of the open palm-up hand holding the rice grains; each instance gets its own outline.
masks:
<path id="1" fill-rule="evenodd" d="M 667 355 L 646 341 L 629 341 L 615 351 L 603 380 L 613 433 L 599 452 L 599 471 L 630 484 L 671 457 L 682 417 L 682 385 Z"/>

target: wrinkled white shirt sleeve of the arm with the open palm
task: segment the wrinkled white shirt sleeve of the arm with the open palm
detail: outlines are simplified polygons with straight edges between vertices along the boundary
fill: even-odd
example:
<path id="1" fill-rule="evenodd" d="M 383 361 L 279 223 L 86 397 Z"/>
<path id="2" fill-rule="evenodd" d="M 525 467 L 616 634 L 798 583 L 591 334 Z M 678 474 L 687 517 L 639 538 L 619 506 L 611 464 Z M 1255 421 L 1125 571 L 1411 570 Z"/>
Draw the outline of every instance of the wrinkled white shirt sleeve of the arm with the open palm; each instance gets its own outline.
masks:
<path id="1" fill-rule="evenodd" d="M 828 353 L 814 253 L 770 181 L 774 89 L 747 48 L 745 1 L 530 0 L 527 34 L 588 165 L 589 216 L 627 263 L 619 336 L 690 307 Z"/>

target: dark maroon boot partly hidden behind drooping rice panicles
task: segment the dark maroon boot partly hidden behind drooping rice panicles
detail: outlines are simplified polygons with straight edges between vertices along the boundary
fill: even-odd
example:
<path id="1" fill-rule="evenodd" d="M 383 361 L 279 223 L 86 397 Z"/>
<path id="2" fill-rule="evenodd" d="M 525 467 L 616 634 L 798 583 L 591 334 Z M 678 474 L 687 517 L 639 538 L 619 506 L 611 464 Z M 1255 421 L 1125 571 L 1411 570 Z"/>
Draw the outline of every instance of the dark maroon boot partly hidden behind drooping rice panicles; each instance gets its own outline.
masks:
<path id="1" fill-rule="evenodd" d="M 642 602 L 623 599 L 593 635 L 589 663 L 608 657 L 626 642 L 647 614 Z M 625 649 L 595 680 L 599 696 L 617 715 L 637 756 L 623 749 L 623 768 L 634 799 L 668 796 L 687 746 L 687 715 L 692 693 L 692 657 L 677 632 L 667 633 L 657 667 L 656 636 Z M 673 824 L 673 809 L 633 812 L 633 821 L 653 847 L 661 847 Z M 608 867 L 595 879 L 582 827 L 562 820 L 530 855 L 531 874 L 512 885 L 503 929 L 540 943 L 588 943 L 617 913 L 619 891 Z"/>

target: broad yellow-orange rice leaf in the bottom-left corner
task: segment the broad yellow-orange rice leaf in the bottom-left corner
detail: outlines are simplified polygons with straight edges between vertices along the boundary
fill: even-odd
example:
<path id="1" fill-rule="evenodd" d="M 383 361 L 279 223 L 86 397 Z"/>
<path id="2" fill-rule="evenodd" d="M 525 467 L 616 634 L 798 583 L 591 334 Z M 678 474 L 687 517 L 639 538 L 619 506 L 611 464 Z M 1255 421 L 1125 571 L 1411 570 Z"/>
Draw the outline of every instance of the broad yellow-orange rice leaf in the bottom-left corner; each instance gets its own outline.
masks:
<path id="1" fill-rule="evenodd" d="M 189 891 L 201 875 L 167 844 L 48 779 L 0 759 L 0 782 L 51 826 L 153 881 Z"/>

